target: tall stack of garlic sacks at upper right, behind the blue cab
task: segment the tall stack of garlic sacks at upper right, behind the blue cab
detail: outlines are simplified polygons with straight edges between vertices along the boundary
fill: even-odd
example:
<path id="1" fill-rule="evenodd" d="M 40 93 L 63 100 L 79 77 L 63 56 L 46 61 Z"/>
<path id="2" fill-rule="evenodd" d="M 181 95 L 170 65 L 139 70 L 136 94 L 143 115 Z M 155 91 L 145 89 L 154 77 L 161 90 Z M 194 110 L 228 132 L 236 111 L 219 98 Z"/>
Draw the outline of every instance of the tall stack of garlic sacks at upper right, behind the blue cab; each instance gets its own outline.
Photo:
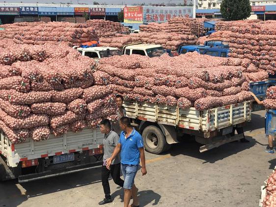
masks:
<path id="1" fill-rule="evenodd" d="M 232 21 L 217 22 L 216 30 L 208 37 L 200 37 L 198 44 L 208 40 L 229 43 L 229 57 L 247 63 L 246 73 L 250 81 L 261 81 L 268 74 L 276 73 L 276 21 Z"/>

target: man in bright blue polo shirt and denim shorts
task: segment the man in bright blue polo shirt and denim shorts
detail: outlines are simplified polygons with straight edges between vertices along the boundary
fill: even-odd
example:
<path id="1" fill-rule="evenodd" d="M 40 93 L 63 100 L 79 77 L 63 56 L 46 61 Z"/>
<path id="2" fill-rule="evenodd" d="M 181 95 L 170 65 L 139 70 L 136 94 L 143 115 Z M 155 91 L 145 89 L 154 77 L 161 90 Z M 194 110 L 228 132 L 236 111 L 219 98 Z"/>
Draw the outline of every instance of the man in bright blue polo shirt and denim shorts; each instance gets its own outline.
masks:
<path id="1" fill-rule="evenodd" d="M 110 168 L 111 162 L 121 151 L 121 170 L 125 179 L 124 207 L 129 207 L 131 196 L 133 197 L 133 204 L 131 207 L 139 207 L 137 197 L 138 188 L 134 184 L 134 178 L 138 171 L 140 159 L 142 164 L 142 175 L 147 173 L 143 138 L 131 127 L 131 122 L 128 117 L 122 117 L 120 119 L 120 127 L 123 131 L 121 132 L 120 139 L 112 156 L 107 161 L 107 168 Z"/>

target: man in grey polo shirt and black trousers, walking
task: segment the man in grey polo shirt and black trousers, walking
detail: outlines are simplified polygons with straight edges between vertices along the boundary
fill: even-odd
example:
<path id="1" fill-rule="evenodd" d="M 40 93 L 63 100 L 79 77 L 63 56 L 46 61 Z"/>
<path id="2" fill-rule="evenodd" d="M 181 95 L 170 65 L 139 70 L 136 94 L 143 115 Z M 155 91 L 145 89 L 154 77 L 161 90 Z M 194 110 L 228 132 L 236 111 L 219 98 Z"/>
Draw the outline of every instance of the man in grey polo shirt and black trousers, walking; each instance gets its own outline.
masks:
<path id="1" fill-rule="evenodd" d="M 121 158 L 118 154 L 110 165 L 110 169 L 107 169 L 106 163 L 111 157 L 116 145 L 118 144 L 119 136 L 114 131 L 111 131 L 111 124 L 108 119 L 104 119 L 100 123 L 101 133 L 104 134 L 104 163 L 102 166 L 102 184 L 105 192 L 105 198 L 99 203 L 104 205 L 112 202 L 110 196 L 109 175 L 113 178 L 114 183 L 123 187 L 124 180 L 120 178 Z"/>

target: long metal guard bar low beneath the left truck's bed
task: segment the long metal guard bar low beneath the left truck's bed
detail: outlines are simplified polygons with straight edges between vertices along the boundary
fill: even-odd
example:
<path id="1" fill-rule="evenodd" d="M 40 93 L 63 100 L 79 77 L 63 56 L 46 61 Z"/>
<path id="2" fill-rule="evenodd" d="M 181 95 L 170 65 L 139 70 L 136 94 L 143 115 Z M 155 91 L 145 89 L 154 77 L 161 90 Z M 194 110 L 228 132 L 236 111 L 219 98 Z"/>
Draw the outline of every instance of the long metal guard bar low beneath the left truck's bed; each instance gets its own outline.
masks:
<path id="1" fill-rule="evenodd" d="M 77 173 L 77 172 L 82 172 L 85 170 L 102 168 L 102 163 L 103 162 L 101 161 L 101 162 L 97 162 L 97 163 L 93 163 L 93 164 L 72 166 L 72 167 L 68 167 L 65 169 L 61 169 L 61 170 L 45 171 L 42 173 L 32 173 L 32 174 L 20 175 L 20 176 L 18 176 L 18 182 L 24 183 L 24 182 L 40 180 L 40 179 L 49 178 L 49 177 L 55 177 L 55 176 L 59 176 L 59 175 L 63 175 L 63 174 Z"/>

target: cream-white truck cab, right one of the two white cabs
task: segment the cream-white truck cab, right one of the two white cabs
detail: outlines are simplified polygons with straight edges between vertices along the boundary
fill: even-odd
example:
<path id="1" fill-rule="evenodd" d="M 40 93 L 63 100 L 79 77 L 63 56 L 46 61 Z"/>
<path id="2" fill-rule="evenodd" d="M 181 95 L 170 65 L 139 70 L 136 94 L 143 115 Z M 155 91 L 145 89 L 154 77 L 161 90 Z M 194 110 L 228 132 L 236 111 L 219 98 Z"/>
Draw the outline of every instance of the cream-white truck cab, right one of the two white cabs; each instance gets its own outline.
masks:
<path id="1" fill-rule="evenodd" d="M 152 57 L 160 57 L 166 51 L 162 45 L 160 44 L 129 44 L 123 47 L 123 54 L 124 55 L 142 55 L 142 56 L 149 56 Z"/>

